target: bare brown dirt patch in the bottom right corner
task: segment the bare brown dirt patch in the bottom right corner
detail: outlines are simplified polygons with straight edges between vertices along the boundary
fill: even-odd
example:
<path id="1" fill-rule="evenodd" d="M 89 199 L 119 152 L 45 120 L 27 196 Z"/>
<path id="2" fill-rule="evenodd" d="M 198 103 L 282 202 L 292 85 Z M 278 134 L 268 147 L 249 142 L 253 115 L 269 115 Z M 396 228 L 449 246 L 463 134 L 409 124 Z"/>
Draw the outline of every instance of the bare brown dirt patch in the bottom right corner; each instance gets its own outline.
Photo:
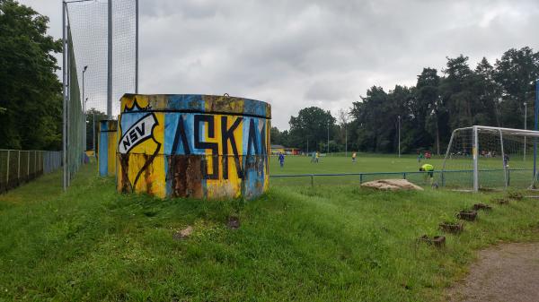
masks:
<path id="1" fill-rule="evenodd" d="M 447 292 L 448 301 L 538 301 L 539 243 L 505 244 L 479 253 L 468 276 Z"/>

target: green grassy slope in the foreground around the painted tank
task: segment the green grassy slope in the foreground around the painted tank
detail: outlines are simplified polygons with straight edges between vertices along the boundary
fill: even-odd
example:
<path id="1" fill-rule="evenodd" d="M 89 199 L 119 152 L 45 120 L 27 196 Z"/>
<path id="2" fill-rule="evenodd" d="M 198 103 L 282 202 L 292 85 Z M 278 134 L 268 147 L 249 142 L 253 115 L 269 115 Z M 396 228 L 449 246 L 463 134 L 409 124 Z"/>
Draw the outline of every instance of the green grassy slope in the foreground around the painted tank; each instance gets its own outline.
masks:
<path id="1" fill-rule="evenodd" d="M 384 160 L 393 159 L 357 166 Z M 384 167 L 415 170 L 413 161 Z M 321 162 L 316 173 L 347 166 Z M 116 194 L 95 169 L 82 168 L 66 194 L 55 173 L 0 195 L 0 300 L 443 301 L 475 250 L 539 239 L 539 203 L 490 202 L 503 193 L 273 186 L 247 203 L 160 200 Z M 313 172 L 287 158 L 282 173 Z M 417 243 L 477 202 L 494 209 L 446 235 L 445 248 Z M 240 229 L 226 228 L 231 215 Z M 193 234 L 174 240 L 187 226 Z"/>

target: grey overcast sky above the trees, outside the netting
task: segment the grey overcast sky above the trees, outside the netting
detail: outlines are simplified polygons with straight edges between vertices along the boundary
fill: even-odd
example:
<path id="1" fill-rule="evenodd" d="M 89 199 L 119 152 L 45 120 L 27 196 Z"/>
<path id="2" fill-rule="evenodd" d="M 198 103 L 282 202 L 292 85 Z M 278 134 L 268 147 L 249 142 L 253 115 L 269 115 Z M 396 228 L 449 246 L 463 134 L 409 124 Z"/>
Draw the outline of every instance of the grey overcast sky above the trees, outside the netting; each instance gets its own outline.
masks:
<path id="1" fill-rule="evenodd" d="M 59 0 L 20 2 L 61 37 Z M 336 116 L 373 85 L 412 85 L 446 56 L 474 67 L 539 50 L 538 0 L 140 0 L 139 20 L 141 93 L 261 99 L 281 130 L 301 108 Z"/>

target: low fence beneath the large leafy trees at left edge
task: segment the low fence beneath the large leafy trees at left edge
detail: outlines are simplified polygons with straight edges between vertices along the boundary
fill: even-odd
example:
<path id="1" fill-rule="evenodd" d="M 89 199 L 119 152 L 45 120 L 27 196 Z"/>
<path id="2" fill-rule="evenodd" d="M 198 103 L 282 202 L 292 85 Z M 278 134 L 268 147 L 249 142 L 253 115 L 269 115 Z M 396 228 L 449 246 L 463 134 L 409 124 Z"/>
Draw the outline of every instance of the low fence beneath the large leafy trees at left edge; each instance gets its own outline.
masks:
<path id="1" fill-rule="evenodd" d="M 61 151 L 0 150 L 0 193 L 61 166 Z"/>

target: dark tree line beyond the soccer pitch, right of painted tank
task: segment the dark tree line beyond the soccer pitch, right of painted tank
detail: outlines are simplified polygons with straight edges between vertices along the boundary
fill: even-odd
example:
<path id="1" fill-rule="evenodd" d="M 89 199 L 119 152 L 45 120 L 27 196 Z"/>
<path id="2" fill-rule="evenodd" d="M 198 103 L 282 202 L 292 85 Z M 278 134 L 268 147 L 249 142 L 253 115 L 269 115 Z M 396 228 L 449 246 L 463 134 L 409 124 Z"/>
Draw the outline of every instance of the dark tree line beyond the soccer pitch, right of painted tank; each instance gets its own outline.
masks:
<path id="1" fill-rule="evenodd" d="M 425 67 L 415 86 L 380 86 L 340 111 L 338 118 L 322 108 L 301 109 L 291 116 L 289 130 L 271 129 L 271 143 L 326 151 L 391 153 L 398 150 L 444 152 L 451 132 L 458 127 L 492 125 L 527 129 L 534 123 L 535 81 L 539 53 L 530 47 L 510 48 L 494 64 L 483 57 L 473 68 L 468 56 L 446 57 L 446 67 Z"/>

